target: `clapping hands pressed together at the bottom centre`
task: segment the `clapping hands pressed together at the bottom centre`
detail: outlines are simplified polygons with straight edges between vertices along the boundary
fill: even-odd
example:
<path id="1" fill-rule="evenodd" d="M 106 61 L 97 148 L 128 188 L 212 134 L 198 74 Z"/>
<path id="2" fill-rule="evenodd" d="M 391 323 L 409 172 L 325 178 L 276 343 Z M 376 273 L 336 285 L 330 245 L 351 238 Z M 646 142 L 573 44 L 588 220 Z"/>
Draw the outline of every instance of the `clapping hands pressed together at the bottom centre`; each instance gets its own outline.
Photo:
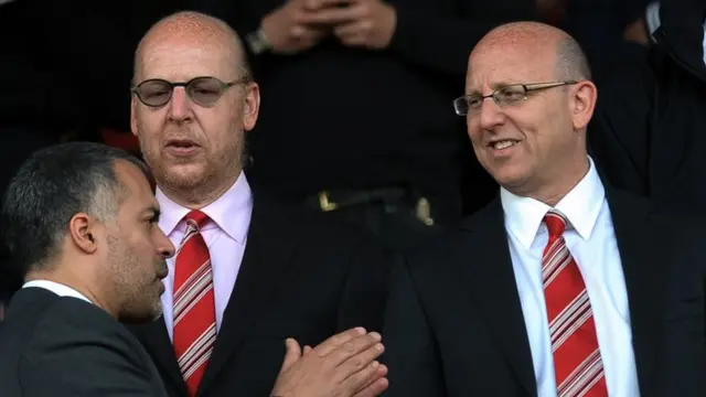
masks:
<path id="1" fill-rule="evenodd" d="M 304 347 L 292 339 L 271 396 L 374 397 L 387 388 L 387 367 L 375 361 L 383 353 L 381 335 L 352 329 L 320 345 Z"/>

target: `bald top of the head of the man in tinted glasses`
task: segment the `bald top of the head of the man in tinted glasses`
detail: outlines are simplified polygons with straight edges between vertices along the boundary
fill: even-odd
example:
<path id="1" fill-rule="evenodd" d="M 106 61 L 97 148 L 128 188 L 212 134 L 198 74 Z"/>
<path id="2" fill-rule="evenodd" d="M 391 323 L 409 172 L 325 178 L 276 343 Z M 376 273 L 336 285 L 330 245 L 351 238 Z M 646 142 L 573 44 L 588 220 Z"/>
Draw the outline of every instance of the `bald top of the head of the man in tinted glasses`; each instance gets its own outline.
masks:
<path id="1" fill-rule="evenodd" d="M 135 54 L 133 79 L 141 77 L 147 53 L 154 49 L 179 45 L 222 52 L 240 78 L 252 78 L 243 42 L 227 23 L 204 13 L 182 11 L 163 18 L 142 36 Z"/>

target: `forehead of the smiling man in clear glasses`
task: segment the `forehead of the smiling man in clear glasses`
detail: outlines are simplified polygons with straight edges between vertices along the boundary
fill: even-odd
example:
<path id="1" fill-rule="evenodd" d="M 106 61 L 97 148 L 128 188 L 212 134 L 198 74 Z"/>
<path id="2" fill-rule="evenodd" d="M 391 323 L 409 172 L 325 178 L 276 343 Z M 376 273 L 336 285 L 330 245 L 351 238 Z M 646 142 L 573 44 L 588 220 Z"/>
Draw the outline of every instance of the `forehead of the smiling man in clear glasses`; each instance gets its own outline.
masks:
<path id="1" fill-rule="evenodd" d="M 550 82 L 555 76 L 555 52 L 527 43 L 482 45 L 469 57 L 466 92 L 485 93 L 510 84 Z"/>

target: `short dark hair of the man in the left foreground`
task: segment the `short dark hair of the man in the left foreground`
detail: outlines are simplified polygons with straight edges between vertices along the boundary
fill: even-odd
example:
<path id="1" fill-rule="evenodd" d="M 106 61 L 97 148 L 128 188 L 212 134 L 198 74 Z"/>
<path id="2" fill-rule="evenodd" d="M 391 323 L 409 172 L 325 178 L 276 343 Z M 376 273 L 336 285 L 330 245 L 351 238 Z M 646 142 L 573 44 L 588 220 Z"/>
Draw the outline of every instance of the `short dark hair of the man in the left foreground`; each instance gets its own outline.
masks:
<path id="1" fill-rule="evenodd" d="M 76 213 L 99 221 L 117 214 L 125 194 L 115 171 L 117 160 L 137 165 L 147 175 L 147 167 L 135 155 L 92 142 L 52 146 L 24 161 L 0 211 L 1 234 L 15 271 L 24 277 L 57 255 Z"/>

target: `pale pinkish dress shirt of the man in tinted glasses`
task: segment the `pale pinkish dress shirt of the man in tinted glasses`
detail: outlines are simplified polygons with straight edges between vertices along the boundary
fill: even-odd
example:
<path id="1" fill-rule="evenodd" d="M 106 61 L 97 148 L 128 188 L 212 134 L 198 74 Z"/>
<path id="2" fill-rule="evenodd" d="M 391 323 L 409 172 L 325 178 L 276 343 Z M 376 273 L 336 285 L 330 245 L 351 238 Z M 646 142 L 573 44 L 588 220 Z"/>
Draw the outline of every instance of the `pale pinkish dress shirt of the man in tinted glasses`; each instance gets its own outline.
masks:
<path id="1" fill-rule="evenodd" d="M 159 187 L 157 189 L 156 197 L 161 210 L 159 227 L 169 237 L 174 247 L 179 249 L 181 239 L 186 232 L 183 217 L 191 210 L 174 203 Z M 240 172 L 233 186 L 218 200 L 201 208 L 201 212 L 208 215 L 210 218 L 201 228 L 201 235 L 206 242 L 208 255 L 211 256 L 217 332 L 221 330 L 223 312 L 228 304 L 228 300 L 231 300 L 231 292 L 233 292 L 233 287 L 240 269 L 253 214 L 253 195 L 245 173 Z M 162 280 L 164 285 L 164 293 L 162 293 L 164 324 L 167 325 L 169 337 L 172 340 L 175 260 L 176 255 L 167 260 L 169 276 Z"/>

